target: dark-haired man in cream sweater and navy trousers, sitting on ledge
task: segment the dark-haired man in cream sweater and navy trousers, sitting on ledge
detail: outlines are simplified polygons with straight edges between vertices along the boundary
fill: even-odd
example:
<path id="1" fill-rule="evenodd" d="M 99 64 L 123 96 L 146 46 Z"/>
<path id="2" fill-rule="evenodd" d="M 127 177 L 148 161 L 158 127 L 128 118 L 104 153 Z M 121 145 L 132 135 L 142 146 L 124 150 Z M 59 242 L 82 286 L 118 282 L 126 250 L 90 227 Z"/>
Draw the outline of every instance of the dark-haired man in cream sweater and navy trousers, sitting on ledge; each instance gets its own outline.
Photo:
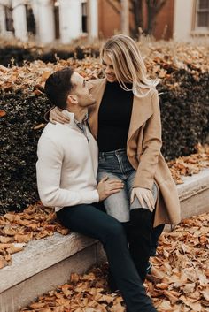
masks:
<path id="1" fill-rule="evenodd" d="M 64 110 L 69 124 L 48 124 L 38 142 L 37 184 L 44 205 L 55 206 L 60 222 L 72 231 L 100 240 L 112 276 L 128 311 L 154 312 L 129 255 L 126 233 L 97 202 L 123 187 L 119 180 L 97 185 L 97 142 L 89 132 L 91 86 L 70 68 L 54 72 L 45 84 L 50 102 Z"/>

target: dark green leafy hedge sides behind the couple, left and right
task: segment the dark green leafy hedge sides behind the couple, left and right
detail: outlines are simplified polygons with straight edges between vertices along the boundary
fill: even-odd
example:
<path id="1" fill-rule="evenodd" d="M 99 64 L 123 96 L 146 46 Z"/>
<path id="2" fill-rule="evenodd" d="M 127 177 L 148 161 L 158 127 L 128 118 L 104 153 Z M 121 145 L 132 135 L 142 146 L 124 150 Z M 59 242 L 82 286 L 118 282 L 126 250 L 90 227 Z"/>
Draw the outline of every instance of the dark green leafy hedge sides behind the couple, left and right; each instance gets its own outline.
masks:
<path id="1" fill-rule="evenodd" d="M 173 72 L 158 86 L 163 126 L 163 154 L 166 159 L 194 152 L 197 142 L 209 133 L 209 73 L 195 80 L 190 72 Z M 43 115 L 50 107 L 44 95 L 30 96 L 20 90 L 0 92 L 2 117 L 0 155 L 0 213 L 24 209 L 36 202 L 36 145 L 43 128 Z"/>

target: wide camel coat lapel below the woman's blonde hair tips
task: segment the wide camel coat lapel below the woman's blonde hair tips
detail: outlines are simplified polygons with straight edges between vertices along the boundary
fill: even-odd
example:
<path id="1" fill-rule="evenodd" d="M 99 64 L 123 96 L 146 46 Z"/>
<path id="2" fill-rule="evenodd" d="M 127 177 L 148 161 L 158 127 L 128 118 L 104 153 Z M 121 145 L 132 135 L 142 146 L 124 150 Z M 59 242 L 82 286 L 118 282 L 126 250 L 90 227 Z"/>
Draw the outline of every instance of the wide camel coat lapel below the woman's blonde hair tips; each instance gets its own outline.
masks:
<path id="1" fill-rule="evenodd" d="M 130 126 L 128 131 L 128 141 L 132 135 L 148 120 L 152 113 L 151 92 L 144 97 L 134 96 L 133 108 L 131 113 Z"/>

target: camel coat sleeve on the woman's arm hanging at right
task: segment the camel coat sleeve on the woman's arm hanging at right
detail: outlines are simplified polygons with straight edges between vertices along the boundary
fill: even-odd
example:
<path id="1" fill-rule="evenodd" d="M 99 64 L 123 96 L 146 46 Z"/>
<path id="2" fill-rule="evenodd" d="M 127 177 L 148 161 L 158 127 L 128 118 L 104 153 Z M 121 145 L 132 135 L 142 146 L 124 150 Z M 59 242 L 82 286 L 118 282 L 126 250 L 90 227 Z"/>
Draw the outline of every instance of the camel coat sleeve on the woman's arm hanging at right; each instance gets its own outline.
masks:
<path id="1" fill-rule="evenodd" d="M 143 128 L 143 150 L 135 174 L 134 187 L 152 189 L 159 153 L 162 146 L 159 95 L 155 90 L 151 95 L 153 114 Z"/>

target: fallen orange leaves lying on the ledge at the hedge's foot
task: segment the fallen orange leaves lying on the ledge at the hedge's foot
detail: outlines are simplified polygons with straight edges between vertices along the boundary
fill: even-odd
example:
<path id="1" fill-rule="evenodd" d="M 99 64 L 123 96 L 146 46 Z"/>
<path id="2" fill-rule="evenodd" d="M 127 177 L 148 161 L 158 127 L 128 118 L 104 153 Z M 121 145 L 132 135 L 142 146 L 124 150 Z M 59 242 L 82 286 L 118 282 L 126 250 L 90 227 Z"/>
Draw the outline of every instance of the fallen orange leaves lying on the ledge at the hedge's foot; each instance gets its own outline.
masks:
<path id="1" fill-rule="evenodd" d="M 169 162 L 168 166 L 176 184 L 183 183 L 182 176 L 198 173 L 209 167 L 209 146 L 198 144 L 197 154 L 183 156 Z M 0 216 L 0 269 L 12 262 L 12 254 L 23 250 L 30 240 L 40 240 L 68 230 L 56 220 L 53 208 L 43 207 L 41 202 L 30 205 L 23 212 L 8 212 Z"/>

